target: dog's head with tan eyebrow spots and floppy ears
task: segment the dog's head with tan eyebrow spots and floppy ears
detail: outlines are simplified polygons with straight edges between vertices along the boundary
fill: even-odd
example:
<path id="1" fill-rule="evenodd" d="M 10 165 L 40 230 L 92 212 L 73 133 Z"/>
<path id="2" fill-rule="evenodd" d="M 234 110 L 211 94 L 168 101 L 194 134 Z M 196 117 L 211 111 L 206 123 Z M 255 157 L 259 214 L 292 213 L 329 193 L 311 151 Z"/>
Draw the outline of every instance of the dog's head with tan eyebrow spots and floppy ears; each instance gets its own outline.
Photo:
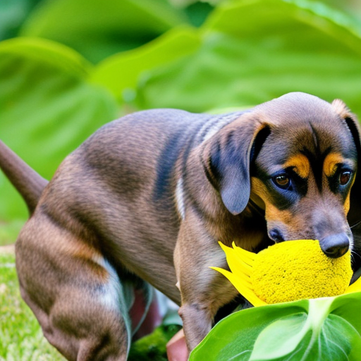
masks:
<path id="1" fill-rule="evenodd" d="M 264 209 L 271 240 L 318 239 L 340 257 L 353 247 L 359 152 L 357 121 L 343 102 L 290 93 L 224 127 L 206 168 L 229 212 Z"/>

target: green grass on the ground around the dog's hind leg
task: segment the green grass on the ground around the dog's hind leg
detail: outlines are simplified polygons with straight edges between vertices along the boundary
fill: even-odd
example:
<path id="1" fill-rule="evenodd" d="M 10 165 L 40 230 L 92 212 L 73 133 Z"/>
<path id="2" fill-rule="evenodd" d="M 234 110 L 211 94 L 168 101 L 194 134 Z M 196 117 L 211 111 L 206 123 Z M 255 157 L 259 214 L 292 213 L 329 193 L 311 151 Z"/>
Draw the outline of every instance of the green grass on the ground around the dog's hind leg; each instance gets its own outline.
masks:
<path id="1" fill-rule="evenodd" d="M 175 324 L 158 327 L 132 345 L 128 360 L 166 361 L 166 342 L 178 329 Z M 1 254 L 1 250 L 0 361 L 66 361 L 44 338 L 35 316 L 20 298 L 15 256 Z"/>

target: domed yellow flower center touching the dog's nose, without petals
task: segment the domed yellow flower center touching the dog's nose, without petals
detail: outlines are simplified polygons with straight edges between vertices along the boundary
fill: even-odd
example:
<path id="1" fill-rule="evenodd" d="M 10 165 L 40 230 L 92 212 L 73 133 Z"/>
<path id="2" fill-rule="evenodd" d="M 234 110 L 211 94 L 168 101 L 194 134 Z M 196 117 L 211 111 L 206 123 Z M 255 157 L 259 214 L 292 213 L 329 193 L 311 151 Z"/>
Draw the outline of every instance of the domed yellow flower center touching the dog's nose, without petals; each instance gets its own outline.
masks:
<path id="1" fill-rule="evenodd" d="M 261 300 L 277 303 L 341 295 L 352 275 L 350 251 L 334 259 L 318 240 L 290 240 L 258 253 L 251 282 Z"/>

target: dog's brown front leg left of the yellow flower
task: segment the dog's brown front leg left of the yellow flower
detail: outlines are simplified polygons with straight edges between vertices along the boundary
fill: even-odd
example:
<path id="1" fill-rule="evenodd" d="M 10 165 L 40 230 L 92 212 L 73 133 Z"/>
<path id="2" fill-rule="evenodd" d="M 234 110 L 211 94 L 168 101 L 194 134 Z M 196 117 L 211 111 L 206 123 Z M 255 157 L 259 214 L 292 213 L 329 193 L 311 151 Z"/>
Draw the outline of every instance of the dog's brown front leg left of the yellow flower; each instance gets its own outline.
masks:
<path id="1" fill-rule="evenodd" d="M 204 229 L 202 221 L 183 221 L 175 250 L 178 287 L 182 305 L 179 314 L 188 350 L 207 336 L 219 308 L 237 295 L 224 276 L 209 267 L 226 268 L 226 257 Z"/>

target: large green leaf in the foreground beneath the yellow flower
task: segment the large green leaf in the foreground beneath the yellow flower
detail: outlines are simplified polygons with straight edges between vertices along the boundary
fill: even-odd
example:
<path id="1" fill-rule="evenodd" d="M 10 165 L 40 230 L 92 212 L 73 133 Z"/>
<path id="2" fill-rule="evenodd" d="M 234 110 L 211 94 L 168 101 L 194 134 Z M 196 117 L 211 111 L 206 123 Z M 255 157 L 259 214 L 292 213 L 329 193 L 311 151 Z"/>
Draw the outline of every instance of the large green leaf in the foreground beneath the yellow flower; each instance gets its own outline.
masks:
<path id="1" fill-rule="evenodd" d="M 216 324 L 190 361 L 359 361 L 361 293 L 255 307 Z"/>

